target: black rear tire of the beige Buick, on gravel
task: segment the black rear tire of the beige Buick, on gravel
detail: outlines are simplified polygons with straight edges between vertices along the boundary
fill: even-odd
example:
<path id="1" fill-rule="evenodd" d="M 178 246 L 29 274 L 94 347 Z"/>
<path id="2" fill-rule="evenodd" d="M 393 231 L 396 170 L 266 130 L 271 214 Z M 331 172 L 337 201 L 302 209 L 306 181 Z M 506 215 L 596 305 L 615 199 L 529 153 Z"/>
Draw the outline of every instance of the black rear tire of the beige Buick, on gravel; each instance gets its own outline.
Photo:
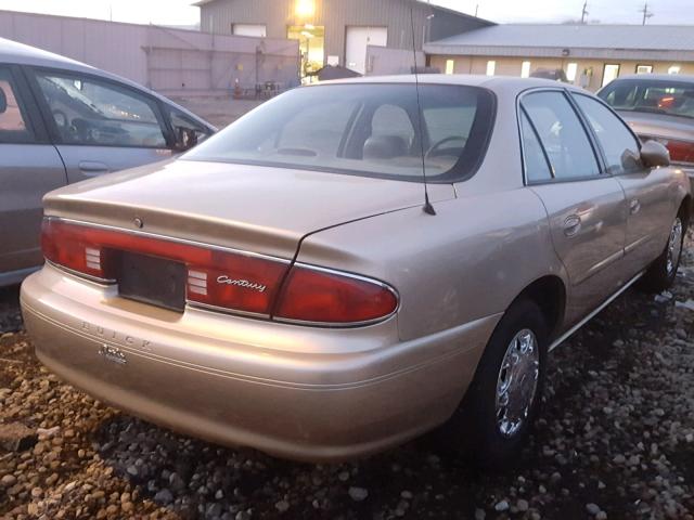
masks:
<path id="1" fill-rule="evenodd" d="M 447 451 L 472 458 L 478 467 L 491 469 L 510 464 L 519 455 L 540 408 L 544 389 L 548 337 L 548 325 L 537 303 L 522 299 L 511 306 L 487 343 L 467 393 L 451 419 L 440 430 L 439 440 Z M 509 370 L 505 370 L 505 377 L 502 374 L 502 363 L 510 361 L 507 355 L 513 355 L 513 344 L 517 352 L 519 338 L 526 343 L 529 338 L 535 339 L 535 355 L 530 354 L 531 363 L 527 363 L 527 353 L 522 358 L 525 380 L 528 381 L 528 375 L 532 377 L 532 374 L 537 374 L 535 391 L 528 386 L 507 385 Z M 530 382 L 528 385 L 531 386 Z M 506 395 L 515 398 L 511 399 L 511 404 L 527 403 L 527 408 L 520 405 L 527 415 L 514 414 L 513 406 L 504 408 L 501 400 L 497 402 L 497 392 L 504 386 L 509 388 Z M 512 390 L 515 393 L 512 393 Z M 531 396 L 528 398 L 524 391 L 531 393 Z M 518 422 L 511 420 L 516 416 Z"/>

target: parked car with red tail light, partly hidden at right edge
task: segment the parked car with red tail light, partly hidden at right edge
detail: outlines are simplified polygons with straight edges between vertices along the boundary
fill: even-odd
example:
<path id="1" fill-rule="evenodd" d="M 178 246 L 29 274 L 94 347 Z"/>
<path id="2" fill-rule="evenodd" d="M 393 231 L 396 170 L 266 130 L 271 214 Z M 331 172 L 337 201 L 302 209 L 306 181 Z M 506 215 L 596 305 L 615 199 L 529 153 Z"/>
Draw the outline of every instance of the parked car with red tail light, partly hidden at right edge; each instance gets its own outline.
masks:
<path id="1" fill-rule="evenodd" d="M 694 76 L 641 74 L 609 82 L 597 95 L 637 132 L 670 152 L 694 185 Z"/>

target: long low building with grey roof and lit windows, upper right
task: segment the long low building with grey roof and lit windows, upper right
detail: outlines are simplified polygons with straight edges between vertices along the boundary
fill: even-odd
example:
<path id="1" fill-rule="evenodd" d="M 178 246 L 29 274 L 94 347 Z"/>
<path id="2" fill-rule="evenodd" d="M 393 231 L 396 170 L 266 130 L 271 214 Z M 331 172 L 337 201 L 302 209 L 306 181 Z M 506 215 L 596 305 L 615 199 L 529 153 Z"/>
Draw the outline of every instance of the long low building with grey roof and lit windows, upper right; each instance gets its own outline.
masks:
<path id="1" fill-rule="evenodd" d="M 597 90 L 620 75 L 694 74 L 694 27 L 667 25 L 494 25 L 424 46 L 449 74 L 529 76 L 563 70 Z"/>

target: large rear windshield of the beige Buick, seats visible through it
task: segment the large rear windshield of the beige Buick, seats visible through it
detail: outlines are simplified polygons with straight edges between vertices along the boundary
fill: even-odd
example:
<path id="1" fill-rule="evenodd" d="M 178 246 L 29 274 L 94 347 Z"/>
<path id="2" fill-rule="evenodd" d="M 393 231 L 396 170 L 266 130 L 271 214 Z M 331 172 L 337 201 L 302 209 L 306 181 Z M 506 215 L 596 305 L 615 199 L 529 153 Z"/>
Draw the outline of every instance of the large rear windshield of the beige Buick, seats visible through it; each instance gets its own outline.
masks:
<path id="1" fill-rule="evenodd" d="M 422 108 L 420 125 L 419 106 Z M 364 177 L 451 182 L 483 159 L 491 92 L 464 86 L 327 84 L 290 91 L 183 156 Z"/>

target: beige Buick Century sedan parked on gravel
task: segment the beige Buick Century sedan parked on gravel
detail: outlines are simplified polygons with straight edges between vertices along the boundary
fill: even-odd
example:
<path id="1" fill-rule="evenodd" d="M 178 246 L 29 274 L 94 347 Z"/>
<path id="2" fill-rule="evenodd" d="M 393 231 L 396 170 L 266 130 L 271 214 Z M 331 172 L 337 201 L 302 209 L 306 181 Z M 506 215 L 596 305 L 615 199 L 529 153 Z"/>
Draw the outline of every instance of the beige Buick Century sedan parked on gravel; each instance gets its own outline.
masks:
<path id="1" fill-rule="evenodd" d="M 545 80 L 300 88 L 49 194 L 26 326 L 66 381 L 211 441 L 335 460 L 442 425 L 498 464 L 548 352 L 639 278 L 673 282 L 691 194 L 668 165 Z"/>

